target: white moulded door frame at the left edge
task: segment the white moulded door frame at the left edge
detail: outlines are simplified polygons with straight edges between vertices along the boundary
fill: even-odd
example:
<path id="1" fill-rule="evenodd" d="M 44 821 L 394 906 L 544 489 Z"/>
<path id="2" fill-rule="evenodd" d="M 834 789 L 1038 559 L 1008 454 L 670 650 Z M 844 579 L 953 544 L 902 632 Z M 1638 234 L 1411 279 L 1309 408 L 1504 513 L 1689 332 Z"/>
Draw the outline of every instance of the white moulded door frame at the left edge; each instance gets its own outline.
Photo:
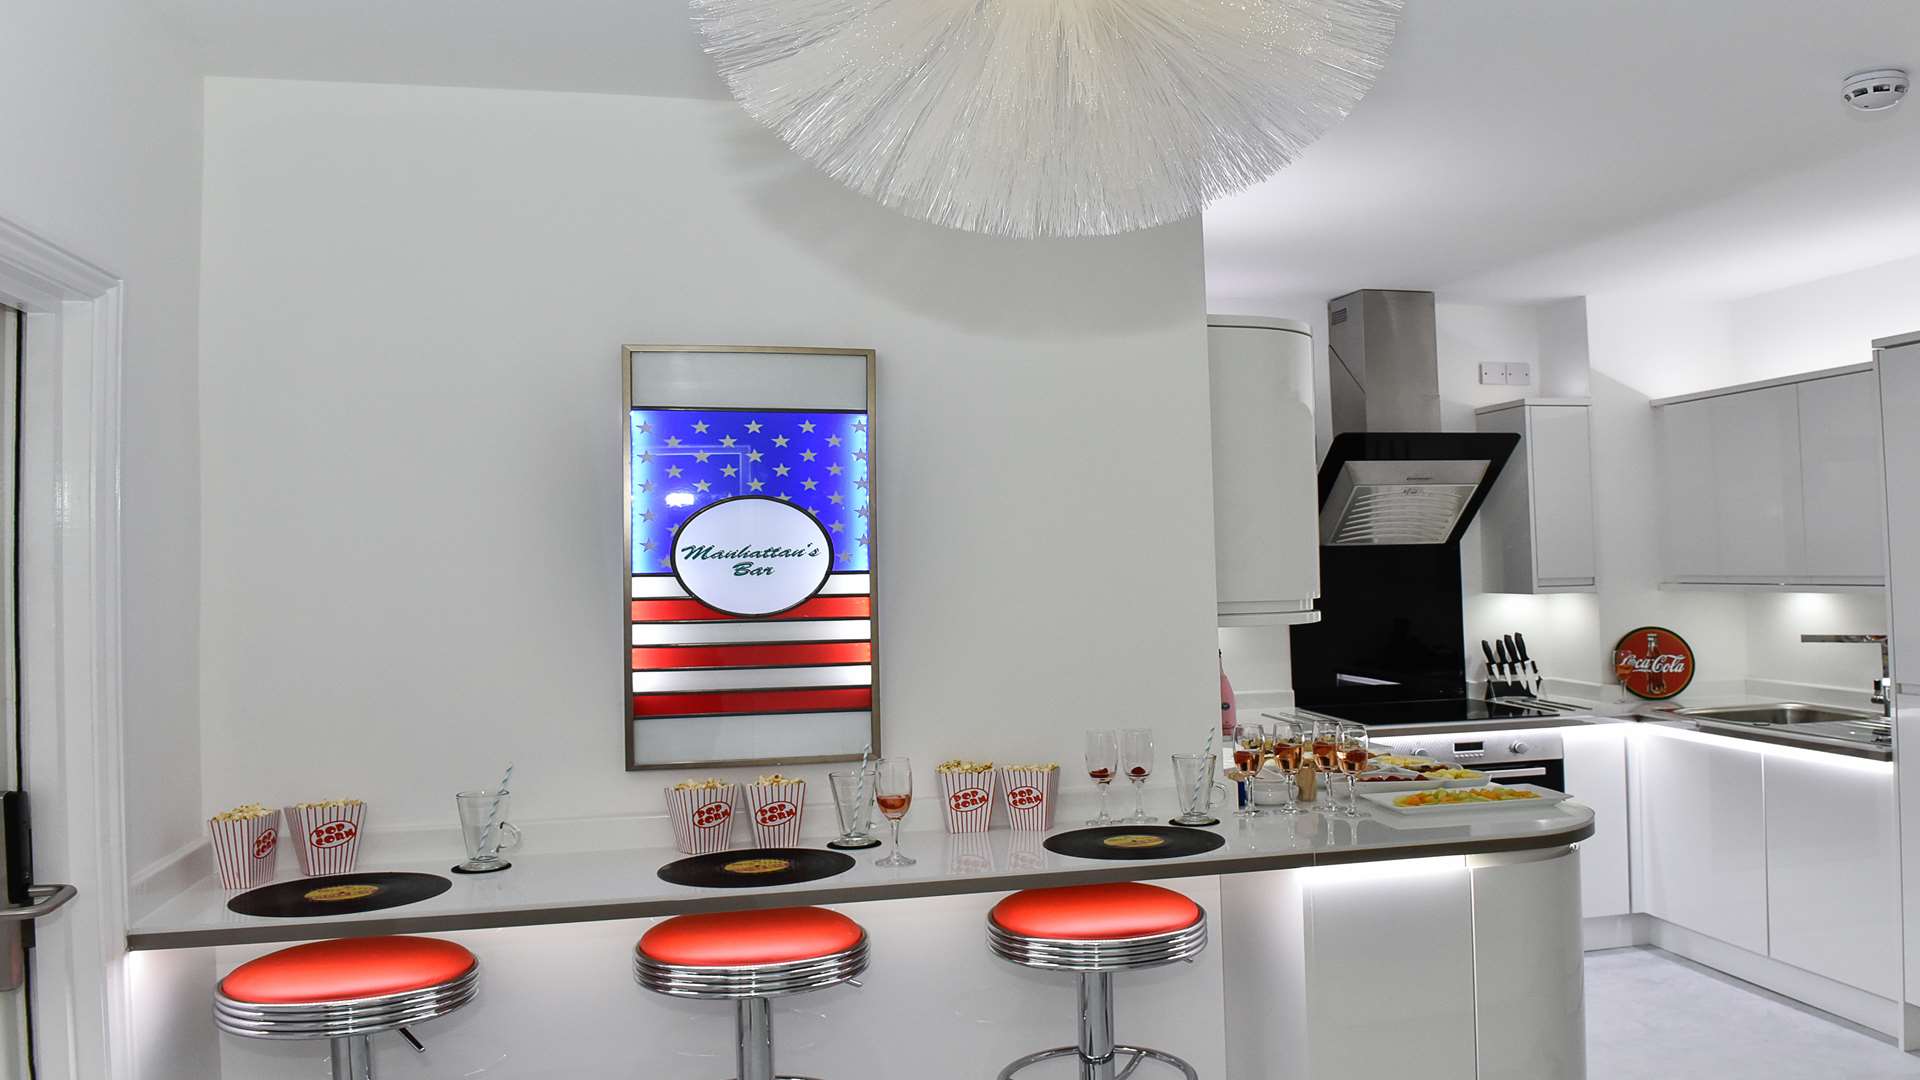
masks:
<path id="1" fill-rule="evenodd" d="M 119 277 L 0 219 L 0 302 L 25 313 L 21 724 L 40 920 L 42 1080 L 132 1076 L 121 784 Z"/>

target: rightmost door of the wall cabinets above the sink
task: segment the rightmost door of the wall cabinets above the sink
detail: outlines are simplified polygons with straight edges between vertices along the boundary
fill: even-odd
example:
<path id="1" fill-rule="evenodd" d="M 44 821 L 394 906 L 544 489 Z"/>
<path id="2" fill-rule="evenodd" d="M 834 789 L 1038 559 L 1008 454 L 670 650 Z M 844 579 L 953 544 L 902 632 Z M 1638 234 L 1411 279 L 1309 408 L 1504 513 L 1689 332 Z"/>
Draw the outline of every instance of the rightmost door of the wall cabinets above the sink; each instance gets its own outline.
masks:
<path id="1" fill-rule="evenodd" d="M 1885 580 L 1880 386 L 1872 371 L 1799 384 L 1807 575 Z"/>

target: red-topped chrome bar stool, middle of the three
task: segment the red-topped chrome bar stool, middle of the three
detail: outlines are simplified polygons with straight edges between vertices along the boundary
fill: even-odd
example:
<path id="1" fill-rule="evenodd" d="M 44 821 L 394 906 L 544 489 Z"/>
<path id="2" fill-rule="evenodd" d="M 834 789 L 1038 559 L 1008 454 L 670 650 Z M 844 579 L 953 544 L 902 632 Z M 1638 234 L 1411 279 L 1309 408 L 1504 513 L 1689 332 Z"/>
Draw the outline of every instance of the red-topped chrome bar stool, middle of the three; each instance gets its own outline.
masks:
<path id="1" fill-rule="evenodd" d="M 634 978 L 647 990 L 739 1003 L 737 1080 L 804 1080 L 774 1076 L 768 997 L 852 982 L 862 970 L 866 930 L 824 907 L 680 915 L 634 945 Z"/>

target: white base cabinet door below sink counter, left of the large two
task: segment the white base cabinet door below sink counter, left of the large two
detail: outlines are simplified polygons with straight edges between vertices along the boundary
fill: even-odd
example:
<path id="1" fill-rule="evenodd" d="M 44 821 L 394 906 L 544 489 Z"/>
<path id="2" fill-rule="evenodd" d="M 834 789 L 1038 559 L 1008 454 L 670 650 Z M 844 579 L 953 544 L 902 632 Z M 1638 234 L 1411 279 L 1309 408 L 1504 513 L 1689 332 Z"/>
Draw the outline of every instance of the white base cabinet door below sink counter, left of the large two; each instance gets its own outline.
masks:
<path id="1" fill-rule="evenodd" d="M 1766 953 L 1763 757 L 1732 740 L 1645 730 L 1634 740 L 1636 909 Z"/>

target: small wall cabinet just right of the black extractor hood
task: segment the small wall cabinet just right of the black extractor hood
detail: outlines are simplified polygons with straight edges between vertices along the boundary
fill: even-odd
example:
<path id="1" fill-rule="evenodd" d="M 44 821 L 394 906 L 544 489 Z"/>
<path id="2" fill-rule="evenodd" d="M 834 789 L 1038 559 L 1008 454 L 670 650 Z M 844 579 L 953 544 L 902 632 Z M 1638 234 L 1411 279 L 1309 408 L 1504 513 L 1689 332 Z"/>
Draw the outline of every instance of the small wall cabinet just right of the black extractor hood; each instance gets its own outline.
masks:
<path id="1" fill-rule="evenodd" d="M 1480 430 L 1521 436 L 1480 507 L 1486 592 L 1594 590 L 1594 450 L 1588 402 L 1524 400 L 1478 409 Z"/>

